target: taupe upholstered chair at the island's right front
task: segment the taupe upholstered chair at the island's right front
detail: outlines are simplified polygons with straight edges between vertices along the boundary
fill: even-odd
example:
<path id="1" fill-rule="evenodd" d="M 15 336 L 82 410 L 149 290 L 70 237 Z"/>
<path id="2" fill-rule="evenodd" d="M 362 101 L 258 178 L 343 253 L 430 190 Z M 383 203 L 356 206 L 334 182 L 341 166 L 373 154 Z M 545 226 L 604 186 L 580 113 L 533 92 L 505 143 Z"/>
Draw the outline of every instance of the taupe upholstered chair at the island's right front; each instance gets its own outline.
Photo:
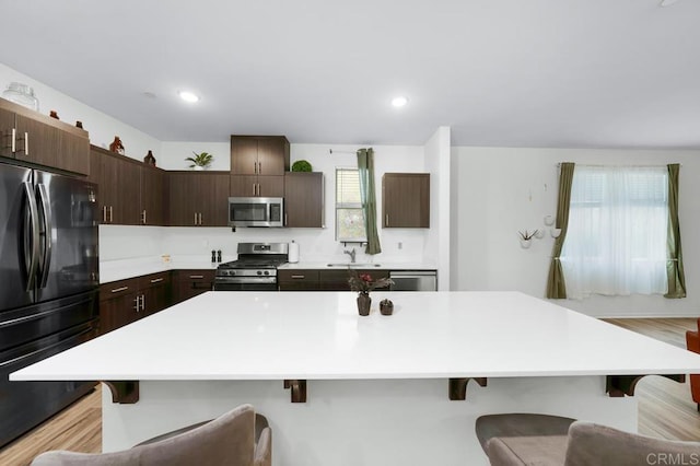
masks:
<path id="1" fill-rule="evenodd" d="M 673 464 L 700 462 L 700 442 L 654 439 L 558 416 L 482 416 L 476 430 L 492 466 L 635 466 L 672 464 L 664 463 L 669 458 L 676 462 Z"/>

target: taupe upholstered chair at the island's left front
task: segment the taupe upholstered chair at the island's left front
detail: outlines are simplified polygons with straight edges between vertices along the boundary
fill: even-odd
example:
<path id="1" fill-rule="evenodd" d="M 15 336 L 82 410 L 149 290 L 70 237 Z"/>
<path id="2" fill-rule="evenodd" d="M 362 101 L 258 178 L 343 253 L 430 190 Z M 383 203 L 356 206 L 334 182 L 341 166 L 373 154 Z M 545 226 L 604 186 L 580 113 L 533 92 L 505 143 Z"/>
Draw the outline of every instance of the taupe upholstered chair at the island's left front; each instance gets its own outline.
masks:
<path id="1" fill-rule="evenodd" d="M 257 424 L 257 426 L 256 426 Z M 211 421 L 160 435 L 114 453 L 47 452 L 32 466 L 271 466 L 267 419 L 242 405 Z"/>

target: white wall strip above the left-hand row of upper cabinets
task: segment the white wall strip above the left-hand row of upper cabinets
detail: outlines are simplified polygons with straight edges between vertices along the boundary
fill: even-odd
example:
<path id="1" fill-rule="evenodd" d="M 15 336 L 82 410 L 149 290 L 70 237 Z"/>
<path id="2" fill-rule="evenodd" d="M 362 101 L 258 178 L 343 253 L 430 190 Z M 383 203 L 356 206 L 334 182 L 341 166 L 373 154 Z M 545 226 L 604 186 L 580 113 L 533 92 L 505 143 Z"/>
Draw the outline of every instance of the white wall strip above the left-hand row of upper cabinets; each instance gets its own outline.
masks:
<path id="1" fill-rule="evenodd" d="M 39 100 L 39 112 L 44 115 L 56 110 L 61 121 L 72 125 L 75 121 L 82 121 L 83 128 L 90 133 L 90 142 L 94 145 L 107 149 L 114 141 L 114 137 L 119 136 L 125 145 L 126 155 L 143 160 L 151 150 L 159 159 L 161 141 L 158 139 L 0 63 L 0 92 L 13 81 L 34 88 L 34 93 Z"/>

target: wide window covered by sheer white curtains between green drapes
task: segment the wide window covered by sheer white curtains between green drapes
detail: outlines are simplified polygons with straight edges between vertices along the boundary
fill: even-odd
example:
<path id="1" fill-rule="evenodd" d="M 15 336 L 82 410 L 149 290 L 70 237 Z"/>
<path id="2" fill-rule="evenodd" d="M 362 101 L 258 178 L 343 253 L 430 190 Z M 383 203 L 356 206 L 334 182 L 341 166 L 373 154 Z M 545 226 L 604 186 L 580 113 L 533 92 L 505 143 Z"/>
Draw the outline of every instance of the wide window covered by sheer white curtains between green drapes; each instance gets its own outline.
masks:
<path id="1" fill-rule="evenodd" d="M 569 298 L 663 294 L 666 167 L 576 165 L 561 266 Z"/>

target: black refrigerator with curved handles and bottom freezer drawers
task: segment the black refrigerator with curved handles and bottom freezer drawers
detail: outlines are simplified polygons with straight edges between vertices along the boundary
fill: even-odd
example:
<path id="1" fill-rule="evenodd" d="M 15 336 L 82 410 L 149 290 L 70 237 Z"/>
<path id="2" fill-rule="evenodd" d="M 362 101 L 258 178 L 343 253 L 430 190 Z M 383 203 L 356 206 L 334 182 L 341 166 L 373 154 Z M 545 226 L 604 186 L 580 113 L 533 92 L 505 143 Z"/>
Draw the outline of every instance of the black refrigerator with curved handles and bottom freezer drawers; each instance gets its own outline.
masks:
<path id="1" fill-rule="evenodd" d="M 0 446 L 90 392 L 9 374 L 97 334 L 97 187 L 0 162 Z"/>

